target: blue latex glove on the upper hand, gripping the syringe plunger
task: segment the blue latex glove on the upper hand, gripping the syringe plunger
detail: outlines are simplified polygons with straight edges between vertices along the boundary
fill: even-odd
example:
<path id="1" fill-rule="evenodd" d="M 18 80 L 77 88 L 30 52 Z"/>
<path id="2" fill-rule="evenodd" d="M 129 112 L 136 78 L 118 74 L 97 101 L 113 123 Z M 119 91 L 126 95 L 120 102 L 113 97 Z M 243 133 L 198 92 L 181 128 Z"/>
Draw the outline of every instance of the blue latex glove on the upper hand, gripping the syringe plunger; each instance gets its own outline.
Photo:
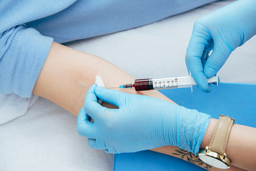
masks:
<path id="1" fill-rule="evenodd" d="M 195 22 L 186 65 L 202 91 L 211 91 L 206 78 L 214 77 L 231 52 L 256 34 L 255 17 L 256 1 L 240 0 Z"/>

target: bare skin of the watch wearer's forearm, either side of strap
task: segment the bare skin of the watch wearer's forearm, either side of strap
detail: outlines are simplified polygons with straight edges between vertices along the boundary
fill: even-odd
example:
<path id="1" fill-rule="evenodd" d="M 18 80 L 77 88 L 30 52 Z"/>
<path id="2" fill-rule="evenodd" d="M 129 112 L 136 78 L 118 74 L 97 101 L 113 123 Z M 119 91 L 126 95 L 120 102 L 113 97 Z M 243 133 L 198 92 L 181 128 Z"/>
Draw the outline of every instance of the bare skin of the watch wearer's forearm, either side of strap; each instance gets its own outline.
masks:
<path id="1" fill-rule="evenodd" d="M 217 119 L 211 118 L 200 148 L 203 149 L 209 145 L 217 121 Z M 226 154 L 227 157 L 231 160 L 231 164 L 245 170 L 256 170 L 255 144 L 255 128 L 240 124 L 233 124 L 226 147 Z"/>

